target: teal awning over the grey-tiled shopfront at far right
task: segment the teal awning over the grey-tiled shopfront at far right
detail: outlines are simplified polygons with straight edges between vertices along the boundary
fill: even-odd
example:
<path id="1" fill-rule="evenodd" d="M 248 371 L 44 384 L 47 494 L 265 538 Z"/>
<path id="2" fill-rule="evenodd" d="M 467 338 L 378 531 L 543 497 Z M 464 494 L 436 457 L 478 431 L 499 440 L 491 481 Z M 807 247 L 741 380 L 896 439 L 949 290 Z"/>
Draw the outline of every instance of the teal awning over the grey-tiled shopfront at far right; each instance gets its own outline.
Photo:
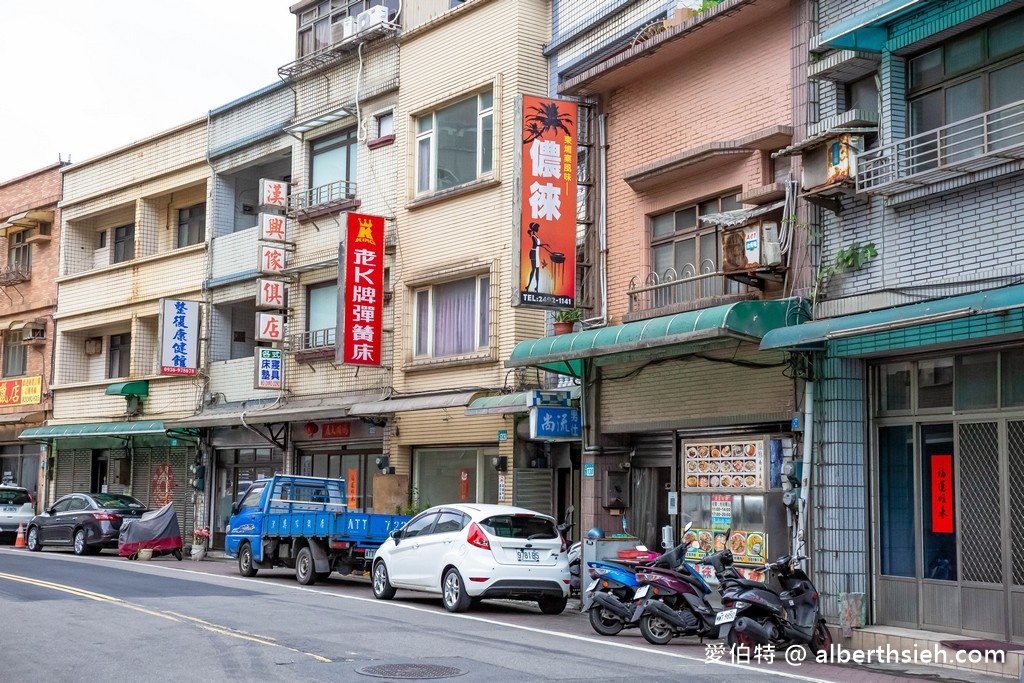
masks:
<path id="1" fill-rule="evenodd" d="M 778 328 L 764 336 L 761 348 L 820 350 L 835 340 L 849 342 L 841 355 L 866 355 L 1021 333 L 1024 285 L 1014 285 Z"/>

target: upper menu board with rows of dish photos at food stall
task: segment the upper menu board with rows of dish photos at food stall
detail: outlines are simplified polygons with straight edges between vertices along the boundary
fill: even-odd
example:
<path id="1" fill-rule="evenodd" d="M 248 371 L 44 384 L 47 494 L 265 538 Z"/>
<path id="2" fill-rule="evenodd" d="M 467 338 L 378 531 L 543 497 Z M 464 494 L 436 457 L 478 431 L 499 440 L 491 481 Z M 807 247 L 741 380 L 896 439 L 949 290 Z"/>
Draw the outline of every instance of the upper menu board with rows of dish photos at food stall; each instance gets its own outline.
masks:
<path id="1" fill-rule="evenodd" d="M 765 444 L 714 441 L 683 444 L 683 488 L 764 488 Z"/>

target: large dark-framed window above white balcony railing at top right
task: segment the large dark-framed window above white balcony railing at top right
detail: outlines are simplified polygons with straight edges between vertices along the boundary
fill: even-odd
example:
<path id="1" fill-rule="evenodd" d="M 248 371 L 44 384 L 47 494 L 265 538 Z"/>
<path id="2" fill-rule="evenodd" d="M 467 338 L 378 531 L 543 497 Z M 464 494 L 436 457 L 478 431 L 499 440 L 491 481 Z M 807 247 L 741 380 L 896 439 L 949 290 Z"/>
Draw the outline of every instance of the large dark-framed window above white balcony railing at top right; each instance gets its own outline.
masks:
<path id="1" fill-rule="evenodd" d="M 1001 18 L 911 57 L 907 72 L 911 135 L 1020 101 L 1024 14 Z M 1001 116 L 1020 116 L 1021 111 L 1014 108 Z"/>

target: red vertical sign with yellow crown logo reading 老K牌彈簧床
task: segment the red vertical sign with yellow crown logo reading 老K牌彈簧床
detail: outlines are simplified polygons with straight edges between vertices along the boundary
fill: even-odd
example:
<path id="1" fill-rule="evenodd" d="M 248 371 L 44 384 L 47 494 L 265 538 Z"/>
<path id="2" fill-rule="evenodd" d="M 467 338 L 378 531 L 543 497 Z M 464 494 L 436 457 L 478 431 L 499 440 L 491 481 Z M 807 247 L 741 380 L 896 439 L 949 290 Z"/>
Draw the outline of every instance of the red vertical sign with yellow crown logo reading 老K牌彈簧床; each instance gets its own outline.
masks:
<path id="1" fill-rule="evenodd" d="M 384 310 L 384 218 L 348 214 L 344 245 L 344 301 L 337 338 L 343 364 L 381 365 Z"/>

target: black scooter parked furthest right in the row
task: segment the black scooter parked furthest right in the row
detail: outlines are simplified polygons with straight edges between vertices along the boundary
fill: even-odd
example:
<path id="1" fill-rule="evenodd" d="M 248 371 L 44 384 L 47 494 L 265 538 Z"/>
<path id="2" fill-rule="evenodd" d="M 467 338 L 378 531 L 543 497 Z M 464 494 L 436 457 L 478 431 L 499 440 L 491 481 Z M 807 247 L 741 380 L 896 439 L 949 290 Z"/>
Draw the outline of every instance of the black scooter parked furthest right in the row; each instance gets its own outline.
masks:
<path id="1" fill-rule="evenodd" d="M 731 553 L 729 555 L 728 563 L 731 564 Z M 781 592 L 765 583 L 744 579 L 728 579 L 723 583 L 724 609 L 719 612 L 718 621 L 723 626 L 722 636 L 730 646 L 807 645 L 812 652 L 831 646 L 831 633 L 821 616 L 817 589 L 799 565 L 806 559 L 805 556 L 783 555 L 765 564 L 766 577 L 777 572 Z"/>

